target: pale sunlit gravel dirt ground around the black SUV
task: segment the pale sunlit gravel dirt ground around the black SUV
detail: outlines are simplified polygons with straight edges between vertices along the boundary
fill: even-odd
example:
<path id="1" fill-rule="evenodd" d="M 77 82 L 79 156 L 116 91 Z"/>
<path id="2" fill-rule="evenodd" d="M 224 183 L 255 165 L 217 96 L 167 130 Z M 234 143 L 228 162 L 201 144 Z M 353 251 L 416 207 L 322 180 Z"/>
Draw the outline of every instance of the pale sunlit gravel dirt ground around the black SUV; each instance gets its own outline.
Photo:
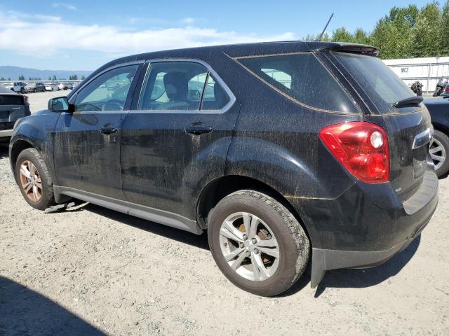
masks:
<path id="1" fill-rule="evenodd" d="M 33 111 L 52 94 L 29 94 Z M 32 209 L 0 148 L 0 335 L 449 335 L 448 191 L 442 179 L 427 229 L 386 264 L 317 290 L 308 271 L 264 298 L 225 279 L 204 236 L 91 204 Z"/>

